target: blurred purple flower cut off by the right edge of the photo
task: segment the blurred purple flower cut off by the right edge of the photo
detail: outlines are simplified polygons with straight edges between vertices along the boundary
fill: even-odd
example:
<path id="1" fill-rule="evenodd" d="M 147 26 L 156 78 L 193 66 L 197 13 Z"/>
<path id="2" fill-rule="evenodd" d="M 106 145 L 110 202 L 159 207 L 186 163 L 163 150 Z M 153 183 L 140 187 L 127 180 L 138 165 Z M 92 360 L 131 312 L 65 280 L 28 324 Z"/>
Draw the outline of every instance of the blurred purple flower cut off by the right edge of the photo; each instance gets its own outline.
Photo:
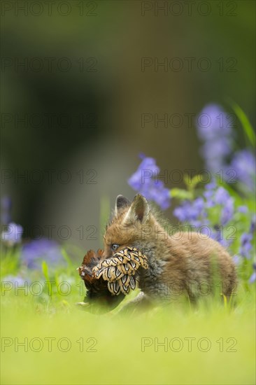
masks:
<path id="1" fill-rule="evenodd" d="M 250 191 L 255 191 L 256 160 L 253 153 L 248 150 L 235 153 L 230 169 L 236 172 L 238 181 L 241 181 Z"/>

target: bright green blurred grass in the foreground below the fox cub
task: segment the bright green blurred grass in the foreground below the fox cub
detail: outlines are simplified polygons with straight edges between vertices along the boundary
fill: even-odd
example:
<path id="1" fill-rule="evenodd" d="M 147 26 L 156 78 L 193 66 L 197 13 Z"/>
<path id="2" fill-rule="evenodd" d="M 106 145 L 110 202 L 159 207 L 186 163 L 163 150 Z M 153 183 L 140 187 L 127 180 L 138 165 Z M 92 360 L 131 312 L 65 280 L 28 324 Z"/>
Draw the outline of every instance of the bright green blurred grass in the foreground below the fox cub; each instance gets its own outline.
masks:
<path id="1" fill-rule="evenodd" d="M 92 314 L 75 304 L 78 278 L 66 297 L 2 293 L 1 384 L 255 384 L 253 286 L 241 286 L 231 307 L 208 298 L 195 308 Z M 28 351 L 17 345 L 25 338 Z M 166 342 L 158 351 L 157 341 Z"/>

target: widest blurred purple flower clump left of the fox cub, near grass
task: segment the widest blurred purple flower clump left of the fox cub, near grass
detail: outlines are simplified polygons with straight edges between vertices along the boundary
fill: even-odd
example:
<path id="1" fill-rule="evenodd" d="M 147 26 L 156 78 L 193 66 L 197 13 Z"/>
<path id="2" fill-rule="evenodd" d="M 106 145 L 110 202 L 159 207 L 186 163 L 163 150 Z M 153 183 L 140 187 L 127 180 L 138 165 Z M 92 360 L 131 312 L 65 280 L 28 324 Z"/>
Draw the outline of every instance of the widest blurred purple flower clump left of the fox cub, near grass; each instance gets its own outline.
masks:
<path id="1" fill-rule="evenodd" d="M 24 244 L 21 260 L 29 269 L 40 269 L 43 260 L 48 265 L 57 265 L 64 262 L 61 248 L 57 242 L 49 239 L 38 239 Z"/>

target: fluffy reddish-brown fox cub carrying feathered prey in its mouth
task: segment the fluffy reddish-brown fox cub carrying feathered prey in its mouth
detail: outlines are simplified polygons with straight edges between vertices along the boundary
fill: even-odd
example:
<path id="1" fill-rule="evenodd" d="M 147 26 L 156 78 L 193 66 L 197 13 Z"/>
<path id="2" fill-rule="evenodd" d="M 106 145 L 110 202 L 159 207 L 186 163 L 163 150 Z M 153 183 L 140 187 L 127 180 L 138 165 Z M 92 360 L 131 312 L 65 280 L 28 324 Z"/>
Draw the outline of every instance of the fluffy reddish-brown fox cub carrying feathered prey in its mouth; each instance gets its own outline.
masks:
<path id="1" fill-rule="evenodd" d="M 197 232 L 168 234 L 139 194 L 132 202 L 118 195 L 104 235 L 104 258 L 125 246 L 138 248 L 148 258 L 148 269 L 139 271 L 138 286 L 149 300 L 185 295 L 194 301 L 215 290 L 229 297 L 236 286 L 234 262 L 225 248 Z"/>

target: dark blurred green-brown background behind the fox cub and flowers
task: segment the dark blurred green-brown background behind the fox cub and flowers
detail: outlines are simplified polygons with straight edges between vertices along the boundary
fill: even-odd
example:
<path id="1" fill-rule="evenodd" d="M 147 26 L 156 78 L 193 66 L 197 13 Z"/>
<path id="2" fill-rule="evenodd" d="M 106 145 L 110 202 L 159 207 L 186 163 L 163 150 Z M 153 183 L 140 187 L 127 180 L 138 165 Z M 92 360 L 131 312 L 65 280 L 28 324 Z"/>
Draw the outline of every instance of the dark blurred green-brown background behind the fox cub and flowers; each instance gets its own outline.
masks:
<path id="1" fill-rule="evenodd" d="M 1 100 L 13 221 L 97 248 L 138 153 L 202 169 L 193 116 L 209 102 L 255 125 L 255 2 L 2 1 Z"/>

